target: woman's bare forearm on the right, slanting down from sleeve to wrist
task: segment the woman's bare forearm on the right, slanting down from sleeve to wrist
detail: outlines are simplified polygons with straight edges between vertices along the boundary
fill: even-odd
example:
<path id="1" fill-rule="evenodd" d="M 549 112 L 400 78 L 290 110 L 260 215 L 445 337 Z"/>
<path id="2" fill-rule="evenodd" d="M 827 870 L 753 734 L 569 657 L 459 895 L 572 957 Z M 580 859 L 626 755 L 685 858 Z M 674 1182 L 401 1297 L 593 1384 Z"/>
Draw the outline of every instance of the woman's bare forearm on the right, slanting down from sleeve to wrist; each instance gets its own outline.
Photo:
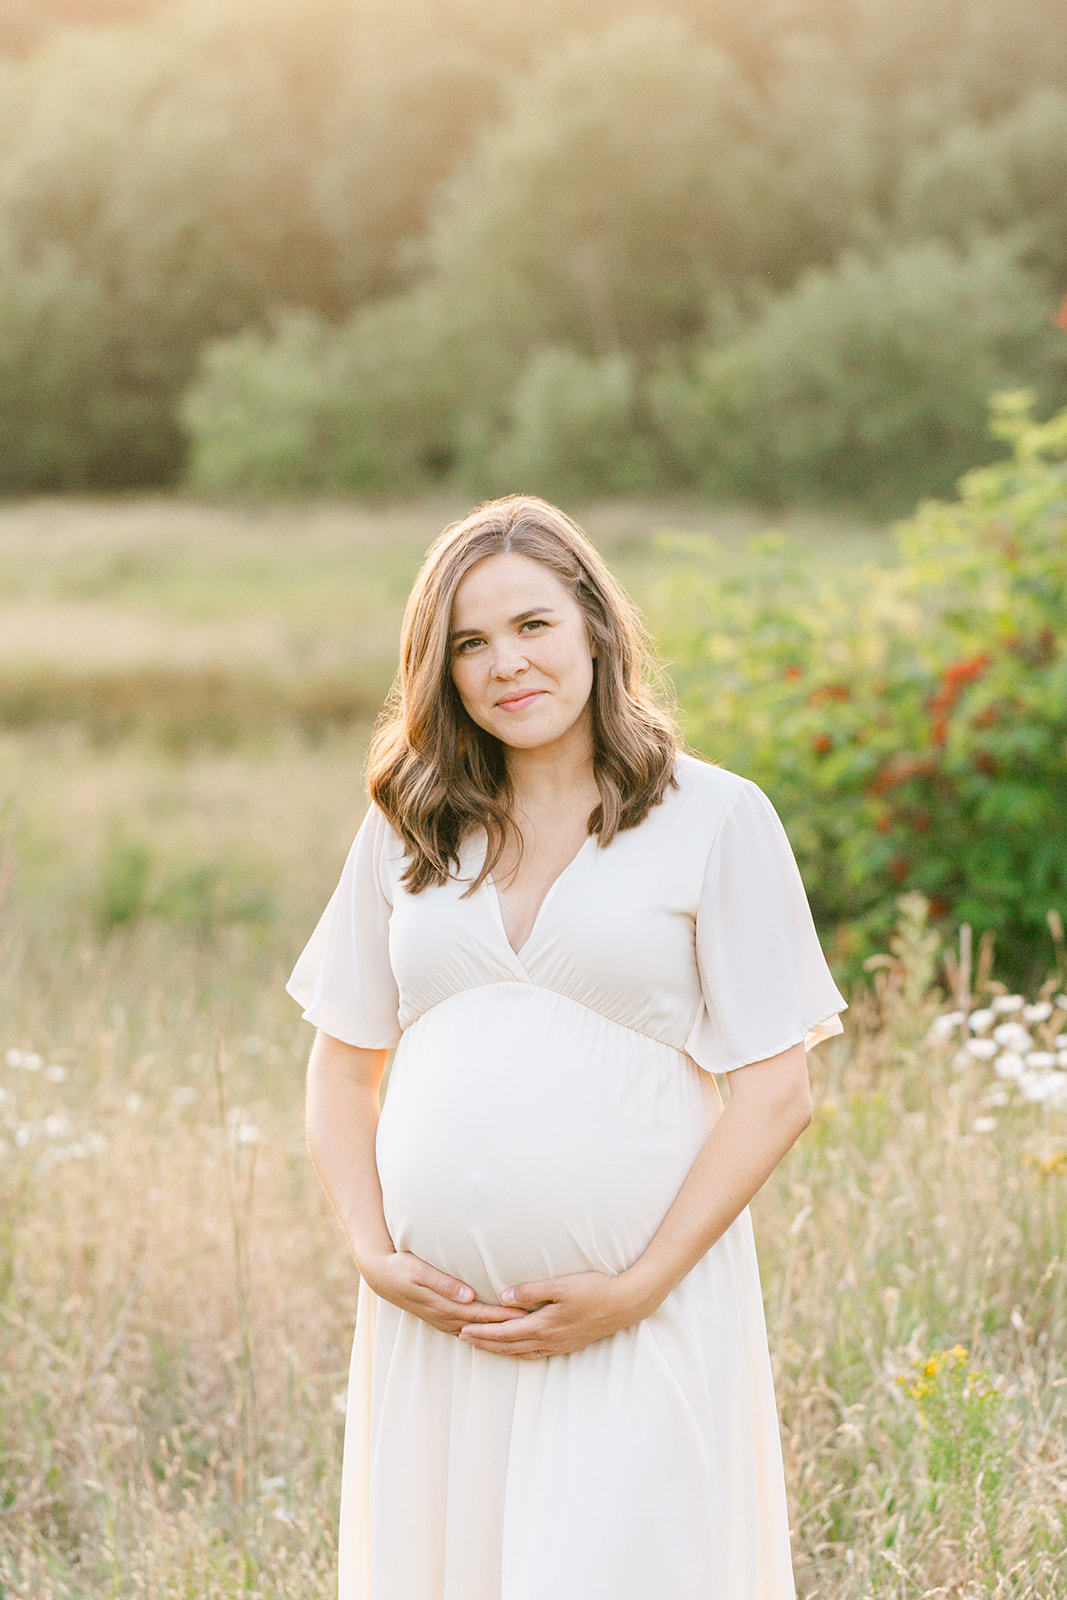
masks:
<path id="1" fill-rule="evenodd" d="M 731 1096 L 667 1216 L 622 1274 L 649 1315 L 718 1240 L 811 1122 L 803 1045 L 731 1074 Z"/>

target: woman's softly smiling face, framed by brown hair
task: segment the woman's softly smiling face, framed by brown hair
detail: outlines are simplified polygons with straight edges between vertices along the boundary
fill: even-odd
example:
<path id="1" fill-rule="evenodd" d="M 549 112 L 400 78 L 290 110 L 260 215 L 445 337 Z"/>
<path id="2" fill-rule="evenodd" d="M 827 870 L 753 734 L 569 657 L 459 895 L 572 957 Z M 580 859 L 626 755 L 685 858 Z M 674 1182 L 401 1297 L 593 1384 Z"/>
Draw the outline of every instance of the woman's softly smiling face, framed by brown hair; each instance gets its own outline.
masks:
<path id="1" fill-rule="evenodd" d="M 518 750 L 584 723 L 593 653 L 577 600 L 528 555 L 486 555 L 456 589 L 451 672 L 467 715 Z"/>

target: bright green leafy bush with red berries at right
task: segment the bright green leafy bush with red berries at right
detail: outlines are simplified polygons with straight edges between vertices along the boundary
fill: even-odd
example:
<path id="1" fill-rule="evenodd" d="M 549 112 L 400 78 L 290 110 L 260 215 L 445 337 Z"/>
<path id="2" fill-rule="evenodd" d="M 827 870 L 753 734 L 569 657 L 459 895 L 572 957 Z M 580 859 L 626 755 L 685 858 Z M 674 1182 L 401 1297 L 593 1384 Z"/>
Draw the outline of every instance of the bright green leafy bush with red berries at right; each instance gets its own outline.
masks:
<path id="1" fill-rule="evenodd" d="M 1067 411 L 1030 406 L 998 400 L 1011 459 L 902 523 L 899 565 L 813 587 L 771 541 L 662 597 L 689 738 L 768 789 L 853 970 L 904 890 L 1014 976 L 1067 912 Z"/>

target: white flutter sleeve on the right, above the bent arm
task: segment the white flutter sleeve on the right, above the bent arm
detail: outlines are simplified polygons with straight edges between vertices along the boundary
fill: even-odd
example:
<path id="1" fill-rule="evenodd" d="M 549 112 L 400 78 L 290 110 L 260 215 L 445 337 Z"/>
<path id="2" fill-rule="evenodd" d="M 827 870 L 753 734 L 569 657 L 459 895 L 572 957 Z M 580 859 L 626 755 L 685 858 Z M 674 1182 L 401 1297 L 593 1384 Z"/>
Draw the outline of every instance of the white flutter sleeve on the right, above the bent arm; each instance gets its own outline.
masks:
<path id="1" fill-rule="evenodd" d="M 688 1053 L 731 1072 L 803 1040 L 843 1032 L 785 829 L 761 789 L 742 781 L 712 843 L 696 914 L 704 1006 Z"/>

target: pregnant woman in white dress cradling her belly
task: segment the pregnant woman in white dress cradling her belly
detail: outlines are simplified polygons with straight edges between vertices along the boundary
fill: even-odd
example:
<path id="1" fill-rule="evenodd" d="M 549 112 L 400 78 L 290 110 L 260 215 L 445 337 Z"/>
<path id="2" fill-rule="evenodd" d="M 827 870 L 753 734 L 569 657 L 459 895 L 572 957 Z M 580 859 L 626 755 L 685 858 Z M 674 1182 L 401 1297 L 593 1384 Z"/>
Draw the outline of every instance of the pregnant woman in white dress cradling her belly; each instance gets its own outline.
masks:
<path id="1" fill-rule="evenodd" d="M 747 1203 L 845 1002 L 774 810 L 645 667 L 539 499 L 446 530 L 408 602 L 290 979 L 362 1274 L 341 1600 L 793 1595 Z"/>

